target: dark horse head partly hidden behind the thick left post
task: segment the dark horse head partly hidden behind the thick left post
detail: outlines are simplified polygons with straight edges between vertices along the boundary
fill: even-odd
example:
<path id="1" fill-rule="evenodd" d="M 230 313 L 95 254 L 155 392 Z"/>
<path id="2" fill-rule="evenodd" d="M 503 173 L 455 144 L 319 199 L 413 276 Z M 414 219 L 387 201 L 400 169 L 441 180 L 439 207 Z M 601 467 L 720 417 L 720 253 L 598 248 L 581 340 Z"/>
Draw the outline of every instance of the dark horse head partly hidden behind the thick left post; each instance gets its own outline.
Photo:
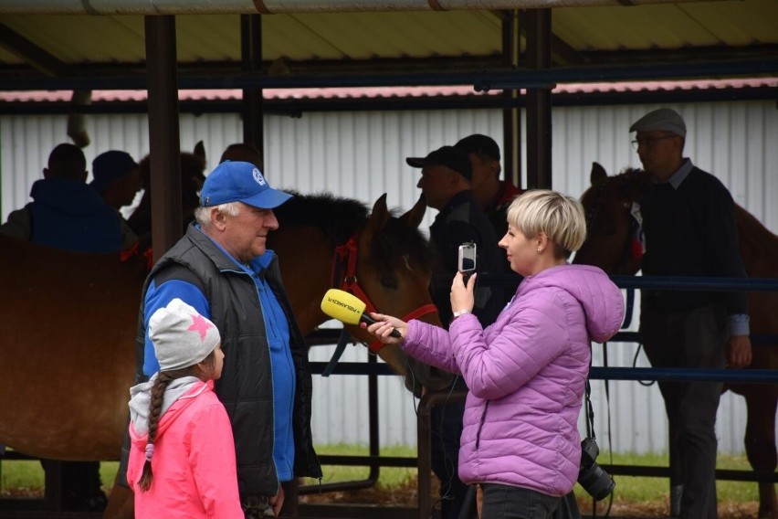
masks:
<path id="1" fill-rule="evenodd" d="M 149 155 L 139 164 L 143 197 L 141 203 L 127 219 L 127 223 L 140 238 L 148 238 L 152 232 L 152 175 Z M 184 228 L 191 221 L 195 208 L 200 204 L 197 194 L 205 182 L 205 146 L 203 142 L 195 144 L 193 153 L 181 154 L 181 206 Z"/>

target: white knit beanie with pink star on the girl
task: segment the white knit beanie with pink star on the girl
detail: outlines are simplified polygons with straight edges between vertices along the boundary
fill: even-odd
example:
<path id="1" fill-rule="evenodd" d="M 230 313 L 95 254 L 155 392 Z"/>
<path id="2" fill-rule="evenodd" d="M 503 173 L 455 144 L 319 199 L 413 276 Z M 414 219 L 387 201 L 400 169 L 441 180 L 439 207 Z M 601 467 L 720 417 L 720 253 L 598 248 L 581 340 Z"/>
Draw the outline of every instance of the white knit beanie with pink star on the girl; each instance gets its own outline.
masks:
<path id="1" fill-rule="evenodd" d="M 216 324 L 176 298 L 153 313 L 149 338 L 160 363 L 160 371 L 181 369 L 201 362 L 221 342 Z"/>

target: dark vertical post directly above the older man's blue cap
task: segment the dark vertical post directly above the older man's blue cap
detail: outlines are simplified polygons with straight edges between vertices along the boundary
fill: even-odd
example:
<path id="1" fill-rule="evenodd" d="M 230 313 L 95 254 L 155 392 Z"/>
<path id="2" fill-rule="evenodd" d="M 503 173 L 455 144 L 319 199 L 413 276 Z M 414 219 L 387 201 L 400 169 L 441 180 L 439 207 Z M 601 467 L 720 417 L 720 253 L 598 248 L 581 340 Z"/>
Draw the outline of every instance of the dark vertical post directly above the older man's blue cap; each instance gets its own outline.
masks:
<path id="1" fill-rule="evenodd" d="M 240 16 L 240 55 L 243 70 L 258 74 L 262 69 L 262 16 Z M 265 156 L 262 89 L 243 89 L 243 142 L 253 144 Z"/>

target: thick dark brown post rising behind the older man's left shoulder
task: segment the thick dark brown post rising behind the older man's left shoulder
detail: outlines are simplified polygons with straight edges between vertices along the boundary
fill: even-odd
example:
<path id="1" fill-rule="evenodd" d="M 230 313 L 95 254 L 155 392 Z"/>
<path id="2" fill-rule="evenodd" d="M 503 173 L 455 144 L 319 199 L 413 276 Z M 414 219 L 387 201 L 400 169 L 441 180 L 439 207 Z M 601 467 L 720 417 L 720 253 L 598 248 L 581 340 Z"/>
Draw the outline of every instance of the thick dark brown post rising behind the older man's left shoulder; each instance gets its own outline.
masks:
<path id="1" fill-rule="evenodd" d="M 159 260 L 181 238 L 181 143 L 175 16 L 144 16 L 149 100 L 152 189 L 152 250 Z"/>

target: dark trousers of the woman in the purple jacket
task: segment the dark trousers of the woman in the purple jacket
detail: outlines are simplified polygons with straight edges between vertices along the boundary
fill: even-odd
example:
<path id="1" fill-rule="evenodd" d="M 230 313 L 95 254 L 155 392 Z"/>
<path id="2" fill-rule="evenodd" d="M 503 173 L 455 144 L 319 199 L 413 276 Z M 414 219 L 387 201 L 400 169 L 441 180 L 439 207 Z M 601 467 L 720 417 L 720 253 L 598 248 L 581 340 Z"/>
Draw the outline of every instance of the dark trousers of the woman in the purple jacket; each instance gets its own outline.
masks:
<path id="1" fill-rule="evenodd" d="M 484 519 L 553 519 L 562 501 L 559 497 L 509 485 L 483 483 L 481 489 Z"/>

